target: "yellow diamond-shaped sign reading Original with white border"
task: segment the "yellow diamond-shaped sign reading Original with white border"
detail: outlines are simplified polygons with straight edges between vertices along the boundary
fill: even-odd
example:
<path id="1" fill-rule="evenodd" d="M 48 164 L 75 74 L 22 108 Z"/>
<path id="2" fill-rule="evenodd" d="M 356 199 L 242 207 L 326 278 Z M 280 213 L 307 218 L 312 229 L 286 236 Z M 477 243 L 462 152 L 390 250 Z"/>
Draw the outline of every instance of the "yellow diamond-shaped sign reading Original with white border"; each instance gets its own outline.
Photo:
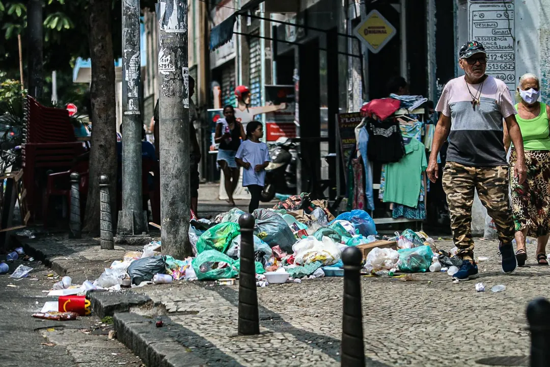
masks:
<path id="1" fill-rule="evenodd" d="M 368 50 L 378 53 L 397 33 L 394 26 L 377 10 L 372 10 L 354 30 Z"/>

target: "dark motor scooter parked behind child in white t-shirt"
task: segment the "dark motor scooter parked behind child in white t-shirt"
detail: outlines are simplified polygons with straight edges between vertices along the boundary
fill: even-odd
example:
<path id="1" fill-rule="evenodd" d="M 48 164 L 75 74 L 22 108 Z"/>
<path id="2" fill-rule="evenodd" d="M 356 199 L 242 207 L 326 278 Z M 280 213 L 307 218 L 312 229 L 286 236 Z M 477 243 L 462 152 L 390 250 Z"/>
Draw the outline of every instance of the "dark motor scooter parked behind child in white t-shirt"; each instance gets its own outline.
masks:
<path id="1" fill-rule="evenodd" d="M 270 152 L 271 162 L 266 167 L 266 179 L 260 200 L 273 200 L 275 194 L 296 194 L 296 162 L 298 143 L 292 138 L 279 138 Z"/>

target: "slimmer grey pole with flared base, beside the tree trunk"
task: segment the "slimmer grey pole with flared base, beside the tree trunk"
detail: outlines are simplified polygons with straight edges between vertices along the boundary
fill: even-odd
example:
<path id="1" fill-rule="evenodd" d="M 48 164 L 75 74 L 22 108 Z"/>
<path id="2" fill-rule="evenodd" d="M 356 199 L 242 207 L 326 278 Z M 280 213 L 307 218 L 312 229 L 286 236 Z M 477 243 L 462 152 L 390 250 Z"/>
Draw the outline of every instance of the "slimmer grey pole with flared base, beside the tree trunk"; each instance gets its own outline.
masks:
<path id="1" fill-rule="evenodd" d="M 140 2 L 122 2 L 122 212 L 118 215 L 119 235 L 147 232 L 141 187 L 140 112 L 141 53 Z"/>

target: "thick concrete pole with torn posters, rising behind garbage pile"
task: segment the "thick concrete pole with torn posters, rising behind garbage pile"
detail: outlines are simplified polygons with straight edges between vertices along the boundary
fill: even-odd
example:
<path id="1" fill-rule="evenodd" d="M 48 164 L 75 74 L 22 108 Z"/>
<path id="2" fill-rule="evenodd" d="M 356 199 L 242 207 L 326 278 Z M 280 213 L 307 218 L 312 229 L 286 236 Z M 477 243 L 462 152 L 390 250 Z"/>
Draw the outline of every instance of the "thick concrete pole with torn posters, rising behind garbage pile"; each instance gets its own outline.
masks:
<path id="1" fill-rule="evenodd" d="M 184 259 L 189 243 L 189 68 L 187 1 L 157 3 L 162 252 Z"/>

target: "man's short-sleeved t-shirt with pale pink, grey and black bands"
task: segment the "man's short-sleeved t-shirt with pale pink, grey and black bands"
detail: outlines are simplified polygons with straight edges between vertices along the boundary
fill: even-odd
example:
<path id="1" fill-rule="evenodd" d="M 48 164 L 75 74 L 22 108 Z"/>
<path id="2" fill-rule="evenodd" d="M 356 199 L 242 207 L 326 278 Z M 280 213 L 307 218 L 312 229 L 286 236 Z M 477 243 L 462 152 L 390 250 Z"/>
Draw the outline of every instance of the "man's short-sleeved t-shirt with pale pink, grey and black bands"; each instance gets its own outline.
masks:
<path id="1" fill-rule="evenodd" d="M 470 92 L 477 96 L 480 87 L 480 105 L 474 108 Z M 484 83 L 466 85 L 464 76 L 452 79 L 445 85 L 436 111 L 451 118 L 448 162 L 477 167 L 508 164 L 503 119 L 517 112 L 503 81 L 487 76 Z"/>

